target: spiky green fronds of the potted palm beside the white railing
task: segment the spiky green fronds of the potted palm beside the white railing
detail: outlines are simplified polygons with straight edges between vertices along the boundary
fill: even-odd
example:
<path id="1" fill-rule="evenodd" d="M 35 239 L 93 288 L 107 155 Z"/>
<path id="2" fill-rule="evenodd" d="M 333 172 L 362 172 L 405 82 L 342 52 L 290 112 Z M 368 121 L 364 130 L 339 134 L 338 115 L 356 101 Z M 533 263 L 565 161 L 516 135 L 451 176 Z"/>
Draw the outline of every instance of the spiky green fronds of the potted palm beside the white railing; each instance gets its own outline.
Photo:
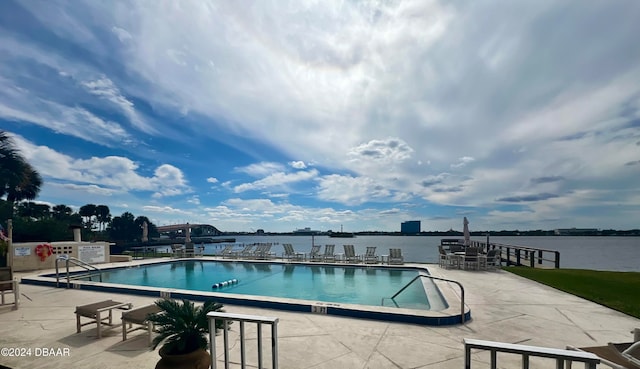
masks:
<path id="1" fill-rule="evenodd" d="M 196 307 L 193 302 L 182 300 L 158 300 L 156 305 L 160 313 L 151 315 L 149 321 L 158 329 L 153 339 L 155 349 L 164 341 L 162 351 L 169 355 L 182 355 L 207 348 L 210 311 L 223 311 L 222 304 L 207 301 Z M 216 330 L 223 328 L 223 322 L 216 320 Z"/>

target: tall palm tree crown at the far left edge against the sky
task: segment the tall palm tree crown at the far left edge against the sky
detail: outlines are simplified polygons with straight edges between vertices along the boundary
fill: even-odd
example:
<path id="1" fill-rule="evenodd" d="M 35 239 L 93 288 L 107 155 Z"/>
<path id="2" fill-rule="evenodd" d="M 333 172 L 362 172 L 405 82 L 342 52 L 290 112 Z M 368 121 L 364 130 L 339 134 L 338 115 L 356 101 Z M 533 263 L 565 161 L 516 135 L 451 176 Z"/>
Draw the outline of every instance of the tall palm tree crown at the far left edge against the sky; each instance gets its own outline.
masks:
<path id="1" fill-rule="evenodd" d="M 33 200 L 42 186 L 42 177 L 15 149 L 11 137 L 0 131 L 0 197 L 7 196 L 12 206 Z"/>

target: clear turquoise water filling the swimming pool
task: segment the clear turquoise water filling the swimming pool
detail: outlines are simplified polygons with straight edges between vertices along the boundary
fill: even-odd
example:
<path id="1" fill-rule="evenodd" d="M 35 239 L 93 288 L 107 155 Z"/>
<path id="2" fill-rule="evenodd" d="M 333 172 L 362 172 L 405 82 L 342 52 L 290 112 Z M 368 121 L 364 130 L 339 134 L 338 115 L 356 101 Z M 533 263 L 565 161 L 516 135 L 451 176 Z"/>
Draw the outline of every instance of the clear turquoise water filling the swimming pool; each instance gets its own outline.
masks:
<path id="1" fill-rule="evenodd" d="M 393 301 L 388 299 L 417 275 L 417 270 L 401 268 L 190 260 L 104 270 L 102 280 L 125 285 L 372 306 L 380 306 L 386 298 L 384 306 L 429 310 L 420 279 Z"/>

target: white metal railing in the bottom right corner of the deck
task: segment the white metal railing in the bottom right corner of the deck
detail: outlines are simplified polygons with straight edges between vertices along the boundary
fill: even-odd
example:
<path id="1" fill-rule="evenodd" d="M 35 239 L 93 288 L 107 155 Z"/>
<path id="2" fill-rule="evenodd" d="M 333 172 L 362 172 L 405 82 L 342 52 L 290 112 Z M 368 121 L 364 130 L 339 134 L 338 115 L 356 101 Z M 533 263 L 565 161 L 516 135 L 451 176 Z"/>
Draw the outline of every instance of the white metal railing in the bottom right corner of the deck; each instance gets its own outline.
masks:
<path id="1" fill-rule="evenodd" d="M 491 369 L 497 368 L 497 353 L 504 352 L 522 356 L 522 368 L 529 368 L 529 357 L 545 357 L 555 359 L 556 369 L 563 369 L 565 361 L 584 363 L 585 369 L 596 369 L 600 358 L 590 352 L 554 349 L 548 347 L 517 345 L 505 342 L 483 341 L 465 338 L 464 367 L 471 369 L 471 349 L 487 350 L 491 352 Z"/>

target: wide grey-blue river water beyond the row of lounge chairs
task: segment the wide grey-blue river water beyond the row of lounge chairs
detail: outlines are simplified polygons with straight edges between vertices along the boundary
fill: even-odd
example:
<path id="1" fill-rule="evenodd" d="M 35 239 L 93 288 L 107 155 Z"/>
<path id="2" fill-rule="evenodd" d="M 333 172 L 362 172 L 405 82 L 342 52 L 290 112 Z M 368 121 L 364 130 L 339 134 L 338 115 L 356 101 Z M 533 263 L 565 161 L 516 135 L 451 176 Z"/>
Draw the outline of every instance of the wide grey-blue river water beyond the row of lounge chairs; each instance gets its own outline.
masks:
<path id="1" fill-rule="evenodd" d="M 228 238 L 228 236 L 223 237 Z M 290 243 L 298 252 L 309 252 L 311 244 L 335 244 L 336 253 L 342 253 L 344 244 L 352 244 L 357 254 L 364 254 L 367 246 L 376 246 L 377 254 L 389 253 L 389 248 L 400 248 L 405 261 L 438 262 L 438 245 L 442 238 L 431 236 L 356 236 L 330 238 L 328 236 L 235 236 L 237 243 L 271 242 L 271 251 L 282 255 L 282 244 Z M 472 237 L 486 241 L 486 237 Z M 561 268 L 635 271 L 640 272 L 640 237 L 491 237 L 491 243 L 528 246 L 560 252 Z M 223 244 L 205 244 L 205 254 L 215 254 Z"/>

